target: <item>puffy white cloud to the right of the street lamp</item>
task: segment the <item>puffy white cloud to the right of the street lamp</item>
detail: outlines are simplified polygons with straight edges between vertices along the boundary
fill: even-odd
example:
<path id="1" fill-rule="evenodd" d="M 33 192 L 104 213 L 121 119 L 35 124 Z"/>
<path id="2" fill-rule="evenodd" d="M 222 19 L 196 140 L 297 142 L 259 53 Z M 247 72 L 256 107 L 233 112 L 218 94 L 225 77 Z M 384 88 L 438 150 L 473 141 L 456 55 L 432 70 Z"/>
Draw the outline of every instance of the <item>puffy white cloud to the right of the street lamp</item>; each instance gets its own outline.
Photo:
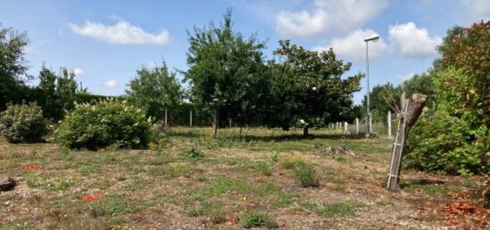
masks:
<path id="1" fill-rule="evenodd" d="M 437 54 L 436 46 L 442 43 L 439 36 L 429 36 L 426 28 L 417 28 L 415 23 L 389 27 L 389 39 L 401 56 L 409 58 L 425 58 Z"/>

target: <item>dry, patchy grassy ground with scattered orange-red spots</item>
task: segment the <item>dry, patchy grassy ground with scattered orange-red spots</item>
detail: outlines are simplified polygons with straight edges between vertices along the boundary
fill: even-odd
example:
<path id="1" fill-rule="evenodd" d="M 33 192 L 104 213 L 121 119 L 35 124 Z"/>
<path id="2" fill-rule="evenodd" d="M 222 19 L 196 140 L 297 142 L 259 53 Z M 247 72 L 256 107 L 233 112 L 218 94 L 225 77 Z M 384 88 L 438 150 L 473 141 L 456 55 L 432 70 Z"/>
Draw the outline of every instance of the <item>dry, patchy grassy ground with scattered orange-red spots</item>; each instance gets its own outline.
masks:
<path id="1" fill-rule="evenodd" d="M 0 141 L 0 175 L 19 181 L 15 190 L 0 193 L 0 229 L 485 224 L 440 211 L 450 202 L 477 203 L 483 178 L 403 171 L 403 191 L 386 191 L 381 184 L 390 139 L 329 130 L 304 139 L 300 131 L 254 128 L 241 137 L 238 129 L 220 130 L 211 141 L 209 133 L 172 128 L 151 150 L 90 152 Z M 334 146 L 355 155 L 324 154 Z"/>

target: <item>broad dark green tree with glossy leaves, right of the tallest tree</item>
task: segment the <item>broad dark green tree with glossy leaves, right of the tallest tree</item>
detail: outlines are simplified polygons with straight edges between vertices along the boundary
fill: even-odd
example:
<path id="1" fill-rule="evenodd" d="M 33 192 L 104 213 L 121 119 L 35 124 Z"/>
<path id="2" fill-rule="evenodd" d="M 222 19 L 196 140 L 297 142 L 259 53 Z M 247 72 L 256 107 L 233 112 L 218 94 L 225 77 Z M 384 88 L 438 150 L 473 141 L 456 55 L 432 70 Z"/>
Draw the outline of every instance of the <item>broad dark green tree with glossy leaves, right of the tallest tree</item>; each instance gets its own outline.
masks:
<path id="1" fill-rule="evenodd" d="M 269 120 L 289 128 L 294 121 L 303 124 L 303 133 L 314 123 L 329 123 L 353 119 L 353 93 L 360 90 L 362 74 L 342 79 L 351 67 L 336 58 L 332 49 L 325 52 L 307 51 L 301 46 L 280 41 L 281 47 L 274 54 L 282 62 L 269 64 L 272 67 L 273 87 L 271 98 L 277 105 Z M 282 101 L 282 102 L 281 102 Z M 279 117 L 274 118 L 274 115 Z M 278 123 L 277 123 L 278 122 Z"/>

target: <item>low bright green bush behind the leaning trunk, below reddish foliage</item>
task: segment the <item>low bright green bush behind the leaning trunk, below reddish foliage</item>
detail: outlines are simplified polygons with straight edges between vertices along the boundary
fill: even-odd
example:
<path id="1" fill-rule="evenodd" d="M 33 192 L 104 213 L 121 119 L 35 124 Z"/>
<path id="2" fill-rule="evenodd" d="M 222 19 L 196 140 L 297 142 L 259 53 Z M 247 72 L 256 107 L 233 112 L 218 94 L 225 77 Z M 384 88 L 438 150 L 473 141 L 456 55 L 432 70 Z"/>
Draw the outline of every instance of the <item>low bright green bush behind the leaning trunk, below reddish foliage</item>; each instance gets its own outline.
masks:
<path id="1" fill-rule="evenodd" d="M 404 166 L 419 171 L 470 175 L 488 171 L 485 124 L 472 123 L 470 113 L 461 117 L 437 111 L 421 115 L 408 139 Z"/>

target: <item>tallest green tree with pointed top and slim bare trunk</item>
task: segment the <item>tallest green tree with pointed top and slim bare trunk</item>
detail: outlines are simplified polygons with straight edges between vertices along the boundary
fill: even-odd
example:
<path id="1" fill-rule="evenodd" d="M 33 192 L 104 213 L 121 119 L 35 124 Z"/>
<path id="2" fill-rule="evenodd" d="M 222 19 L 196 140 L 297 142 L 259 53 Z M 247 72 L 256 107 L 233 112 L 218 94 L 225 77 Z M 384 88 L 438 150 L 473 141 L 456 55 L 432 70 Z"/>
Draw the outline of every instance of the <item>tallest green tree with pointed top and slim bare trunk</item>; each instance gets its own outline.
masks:
<path id="1" fill-rule="evenodd" d="M 220 112 L 247 115 L 259 99 L 265 99 L 265 94 L 257 92 L 263 89 L 265 44 L 256 36 L 243 37 L 232 27 L 232 11 L 228 10 L 219 28 L 210 22 L 208 27 L 194 27 L 193 34 L 188 32 L 189 69 L 184 77 L 190 83 L 192 102 L 214 113 L 213 139 Z"/>

